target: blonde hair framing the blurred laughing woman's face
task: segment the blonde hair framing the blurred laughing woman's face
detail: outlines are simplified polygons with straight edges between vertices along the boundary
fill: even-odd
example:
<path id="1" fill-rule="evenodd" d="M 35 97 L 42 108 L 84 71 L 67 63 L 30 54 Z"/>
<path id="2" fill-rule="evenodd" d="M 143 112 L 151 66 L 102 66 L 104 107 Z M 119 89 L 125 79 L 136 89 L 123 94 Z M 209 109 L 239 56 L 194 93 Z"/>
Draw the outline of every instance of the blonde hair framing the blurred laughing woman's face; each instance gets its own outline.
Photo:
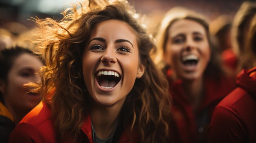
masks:
<path id="1" fill-rule="evenodd" d="M 184 7 L 174 7 L 170 9 L 162 20 L 161 26 L 158 30 L 158 34 L 156 36 L 157 54 L 155 55 L 155 57 L 153 56 L 155 63 L 159 65 L 159 67 L 164 71 L 170 68 L 163 61 L 163 55 L 166 50 L 166 42 L 168 38 L 168 29 L 174 22 L 181 19 L 193 20 L 195 22 L 198 22 L 204 27 L 207 33 L 207 39 L 211 49 L 211 58 L 207 65 L 206 71 L 204 72 L 205 75 L 213 76 L 214 78 L 223 74 L 224 70 L 222 69 L 222 66 L 220 64 L 220 57 L 217 54 L 218 49 L 213 44 L 211 35 L 209 33 L 208 20 L 203 15 L 196 13 L 195 11 L 186 9 Z"/>

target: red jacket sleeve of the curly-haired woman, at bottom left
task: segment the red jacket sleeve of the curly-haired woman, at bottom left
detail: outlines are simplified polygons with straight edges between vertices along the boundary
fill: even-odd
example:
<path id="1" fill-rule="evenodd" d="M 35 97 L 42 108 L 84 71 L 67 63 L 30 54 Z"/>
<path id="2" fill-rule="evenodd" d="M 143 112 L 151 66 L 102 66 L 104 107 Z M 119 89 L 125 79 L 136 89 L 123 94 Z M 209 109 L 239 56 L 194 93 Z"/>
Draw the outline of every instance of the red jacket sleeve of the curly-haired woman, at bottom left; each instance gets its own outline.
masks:
<path id="1" fill-rule="evenodd" d="M 29 123 L 19 123 L 11 132 L 8 143 L 46 143 L 43 134 L 36 126 Z"/>

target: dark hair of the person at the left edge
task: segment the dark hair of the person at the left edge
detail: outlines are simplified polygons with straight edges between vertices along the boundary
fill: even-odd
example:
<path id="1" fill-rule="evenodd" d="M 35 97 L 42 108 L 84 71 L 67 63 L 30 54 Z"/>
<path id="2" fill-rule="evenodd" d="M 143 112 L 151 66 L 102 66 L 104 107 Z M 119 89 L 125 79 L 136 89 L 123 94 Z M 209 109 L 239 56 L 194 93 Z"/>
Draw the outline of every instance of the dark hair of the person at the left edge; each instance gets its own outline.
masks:
<path id="1" fill-rule="evenodd" d="M 36 57 L 41 59 L 39 57 L 39 55 L 33 53 L 29 49 L 22 48 L 19 46 L 12 47 L 12 48 L 6 48 L 6 49 L 0 51 L 0 67 L 1 67 L 0 68 L 0 80 L 2 80 L 2 82 L 4 82 L 5 84 L 8 84 L 8 80 L 7 80 L 8 74 L 9 74 L 11 67 L 13 66 L 14 61 L 20 55 L 25 54 L 25 53 L 35 55 Z M 41 61 L 43 62 L 42 59 L 41 59 Z M 0 101 L 2 103 L 4 103 L 2 92 L 0 92 Z"/>

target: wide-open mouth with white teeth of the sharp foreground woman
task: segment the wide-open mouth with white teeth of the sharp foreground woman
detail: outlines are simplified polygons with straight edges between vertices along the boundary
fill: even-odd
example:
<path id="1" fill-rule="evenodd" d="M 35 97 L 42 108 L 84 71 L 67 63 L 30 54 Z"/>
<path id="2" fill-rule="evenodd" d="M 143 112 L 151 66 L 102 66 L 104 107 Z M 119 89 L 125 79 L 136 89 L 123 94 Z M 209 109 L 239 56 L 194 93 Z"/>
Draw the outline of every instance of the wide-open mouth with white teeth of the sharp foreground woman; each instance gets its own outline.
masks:
<path id="1" fill-rule="evenodd" d="M 120 74 L 111 70 L 99 70 L 96 75 L 99 86 L 104 89 L 115 87 L 121 80 Z"/>

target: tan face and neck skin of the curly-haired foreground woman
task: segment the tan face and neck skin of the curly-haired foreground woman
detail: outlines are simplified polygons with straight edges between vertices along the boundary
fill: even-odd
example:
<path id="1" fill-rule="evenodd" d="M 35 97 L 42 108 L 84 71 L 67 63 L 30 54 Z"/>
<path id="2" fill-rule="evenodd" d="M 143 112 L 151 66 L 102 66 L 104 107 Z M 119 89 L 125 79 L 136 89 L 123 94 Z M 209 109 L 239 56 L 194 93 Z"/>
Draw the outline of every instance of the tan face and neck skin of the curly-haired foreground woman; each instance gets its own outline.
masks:
<path id="1" fill-rule="evenodd" d="M 106 139 L 115 128 L 121 107 L 135 79 L 144 74 L 144 66 L 139 64 L 135 31 L 119 20 L 97 24 L 90 34 L 82 60 L 83 75 L 90 75 L 84 76 L 84 81 L 92 97 L 92 125 L 97 136 Z M 110 84 L 97 80 L 100 71 L 116 72 L 121 80 L 114 87 L 108 87 Z"/>

